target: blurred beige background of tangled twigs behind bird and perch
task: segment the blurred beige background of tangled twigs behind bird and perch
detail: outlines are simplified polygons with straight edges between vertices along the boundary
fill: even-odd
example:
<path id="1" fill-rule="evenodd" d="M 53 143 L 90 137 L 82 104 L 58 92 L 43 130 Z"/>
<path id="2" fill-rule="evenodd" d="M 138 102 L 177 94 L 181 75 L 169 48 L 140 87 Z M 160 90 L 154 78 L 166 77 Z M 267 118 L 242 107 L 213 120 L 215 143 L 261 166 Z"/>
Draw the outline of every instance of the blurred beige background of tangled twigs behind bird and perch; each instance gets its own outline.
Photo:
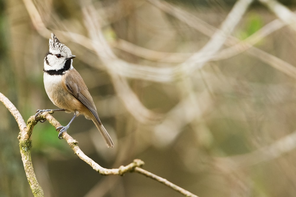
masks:
<path id="1" fill-rule="evenodd" d="M 24 120 L 56 108 L 43 85 L 50 33 L 77 57 L 110 133 L 68 133 L 106 168 L 144 169 L 197 196 L 295 196 L 296 1 L 0 1 L 0 92 Z M 0 104 L 0 197 L 33 196 L 19 129 Z M 66 125 L 73 114 L 54 113 Z M 33 131 L 45 196 L 181 196 L 136 173 L 101 176 L 48 123 Z"/>

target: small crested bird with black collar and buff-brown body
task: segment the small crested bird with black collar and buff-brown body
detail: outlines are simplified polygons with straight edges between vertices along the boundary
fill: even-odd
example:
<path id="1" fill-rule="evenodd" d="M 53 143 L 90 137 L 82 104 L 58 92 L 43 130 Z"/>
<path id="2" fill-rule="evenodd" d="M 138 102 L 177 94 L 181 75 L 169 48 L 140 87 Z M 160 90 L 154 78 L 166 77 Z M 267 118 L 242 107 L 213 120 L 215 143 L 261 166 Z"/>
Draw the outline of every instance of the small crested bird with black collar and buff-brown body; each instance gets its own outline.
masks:
<path id="1" fill-rule="evenodd" d="M 51 33 L 49 51 L 44 58 L 43 81 L 49 99 L 60 109 L 37 110 L 35 118 L 40 113 L 49 111 L 74 112 L 73 118 L 66 126 L 57 128 L 59 139 L 63 139 L 62 133 L 67 131 L 70 124 L 79 114 L 83 114 L 86 119 L 94 122 L 96 128 L 102 134 L 106 145 L 113 147 L 114 143 L 99 118 L 88 88 L 81 75 L 72 65 L 73 58 L 75 57 L 75 55 L 72 55 L 70 48 L 61 43 L 54 33 Z"/>

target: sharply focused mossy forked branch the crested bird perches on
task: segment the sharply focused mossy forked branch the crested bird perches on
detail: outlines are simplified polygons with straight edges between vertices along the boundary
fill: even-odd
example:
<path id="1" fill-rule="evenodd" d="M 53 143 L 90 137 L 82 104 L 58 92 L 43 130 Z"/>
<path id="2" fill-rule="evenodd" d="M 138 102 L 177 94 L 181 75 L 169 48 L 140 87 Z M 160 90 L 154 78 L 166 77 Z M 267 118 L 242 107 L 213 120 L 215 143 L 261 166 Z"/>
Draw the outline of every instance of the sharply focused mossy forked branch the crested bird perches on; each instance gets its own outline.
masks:
<path id="1" fill-rule="evenodd" d="M 31 116 L 28 119 L 27 125 L 26 125 L 24 119 L 20 115 L 17 108 L 1 92 L 0 92 L 0 100 L 6 106 L 6 108 L 10 111 L 10 113 L 15 117 L 15 120 L 19 125 L 20 133 L 19 133 L 18 139 L 20 141 L 20 152 L 22 155 L 22 162 L 24 164 L 25 172 L 26 172 L 27 179 L 30 184 L 32 193 L 34 196 L 38 196 L 38 197 L 44 196 L 44 192 L 36 179 L 36 175 L 35 175 L 32 160 L 31 160 L 31 148 L 32 148 L 31 135 L 33 133 L 34 126 L 40 120 L 45 120 L 45 119 L 48 120 L 49 123 L 55 128 L 58 128 L 59 126 L 61 126 L 61 124 L 52 116 L 53 111 L 50 111 L 50 112 L 44 112 L 39 114 L 36 119 L 35 119 L 35 115 Z M 160 183 L 163 183 L 164 185 L 167 185 L 169 188 L 172 188 L 173 190 L 178 191 L 184 196 L 198 197 L 190 193 L 189 191 L 186 191 L 185 189 L 169 182 L 168 180 L 142 169 L 141 167 L 144 165 L 144 162 L 140 159 L 134 159 L 132 163 L 126 166 L 120 166 L 119 168 L 116 168 L 116 169 L 104 168 L 99 164 L 97 164 L 96 162 L 94 162 L 94 160 L 89 158 L 86 154 L 84 154 L 78 146 L 78 141 L 73 139 L 67 132 L 64 132 L 62 134 L 62 137 L 67 141 L 71 149 L 73 149 L 74 153 L 80 159 L 85 161 L 88 165 L 90 165 L 96 172 L 99 172 L 101 175 L 124 175 L 127 172 L 137 172 L 139 174 L 145 175 L 146 177 L 152 178 L 153 180 L 156 180 Z"/>

